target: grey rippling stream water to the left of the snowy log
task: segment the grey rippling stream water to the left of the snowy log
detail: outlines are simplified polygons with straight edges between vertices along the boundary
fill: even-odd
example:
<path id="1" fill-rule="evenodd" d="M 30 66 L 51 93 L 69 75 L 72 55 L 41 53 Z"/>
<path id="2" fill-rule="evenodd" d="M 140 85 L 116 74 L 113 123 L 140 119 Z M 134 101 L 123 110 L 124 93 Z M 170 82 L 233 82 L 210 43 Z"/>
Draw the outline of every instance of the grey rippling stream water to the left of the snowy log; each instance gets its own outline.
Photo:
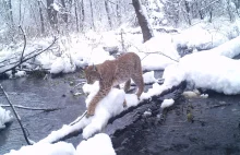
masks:
<path id="1" fill-rule="evenodd" d="M 21 78 L 1 82 L 15 105 L 33 108 L 61 108 L 49 112 L 16 108 L 31 140 L 37 142 L 44 139 L 52 130 L 70 123 L 85 111 L 85 96 L 73 95 L 81 92 L 79 90 L 81 86 L 74 88 L 76 82 L 80 82 L 77 76 L 77 74 L 69 74 L 65 78 L 48 80 Z M 0 104 L 8 105 L 4 96 L 0 96 Z M 11 110 L 11 108 L 5 109 Z M 81 136 L 71 139 L 75 145 L 80 141 Z M 14 120 L 8 128 L 0 131 L 0 154 L 8 153 L 10 150 L 19 150 L 22 145 L 26 145 L 26 142 L 17 121 Z"/>

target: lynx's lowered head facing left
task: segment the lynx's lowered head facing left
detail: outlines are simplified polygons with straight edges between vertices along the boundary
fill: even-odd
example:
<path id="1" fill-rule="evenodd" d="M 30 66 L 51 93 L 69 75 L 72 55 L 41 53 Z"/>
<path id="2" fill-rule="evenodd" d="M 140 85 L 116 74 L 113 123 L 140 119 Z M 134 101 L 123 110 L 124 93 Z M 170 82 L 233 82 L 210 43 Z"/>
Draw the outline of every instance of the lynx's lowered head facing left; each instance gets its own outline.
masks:
<path id="1" fill-rule="evenodd" d="M 96 65 L 89 65 L 84 69 L 87 84 L 93 84 L 95 81 L 101 79 L 100 73 L 97 71 Z"/>

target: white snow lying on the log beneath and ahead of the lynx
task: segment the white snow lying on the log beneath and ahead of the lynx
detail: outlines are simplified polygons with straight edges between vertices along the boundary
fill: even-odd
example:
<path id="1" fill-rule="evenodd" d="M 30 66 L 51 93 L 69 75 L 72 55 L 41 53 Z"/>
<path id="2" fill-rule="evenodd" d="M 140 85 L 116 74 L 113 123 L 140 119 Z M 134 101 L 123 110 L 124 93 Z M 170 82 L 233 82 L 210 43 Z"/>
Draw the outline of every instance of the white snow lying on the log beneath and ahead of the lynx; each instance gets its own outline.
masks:
<path id="1" fill-rule="evenodd" d="M 88 106 L 89 102 L 98 90 L 99 82 L 95 82 L 93 85 L 83 85 L 84 93 L 89 93 L 85 100 L 86 107 Z M 81 129 L 83 129 L 83 138 L 88 139 L 94 133 L 100 132 L 111 117 L 115 117 L 116 115 L 124 110 L 124 99 L 128 107 L 135 106 L 139 103 L 135 94 L 125 94 L 123 90 L 112 88 L 110 93 L 98 103 L 95 115 L 93 117 L 83 117 L 81 121 L 76 122 L 73 126 L 64 124 L 61 129 L 52 131 L 47 138 L 40 140 L 39 142 L 52 143 L 60 138 L 63 138 L 64 135 L 68 135 L 69 133 L 79 131 Z"/>

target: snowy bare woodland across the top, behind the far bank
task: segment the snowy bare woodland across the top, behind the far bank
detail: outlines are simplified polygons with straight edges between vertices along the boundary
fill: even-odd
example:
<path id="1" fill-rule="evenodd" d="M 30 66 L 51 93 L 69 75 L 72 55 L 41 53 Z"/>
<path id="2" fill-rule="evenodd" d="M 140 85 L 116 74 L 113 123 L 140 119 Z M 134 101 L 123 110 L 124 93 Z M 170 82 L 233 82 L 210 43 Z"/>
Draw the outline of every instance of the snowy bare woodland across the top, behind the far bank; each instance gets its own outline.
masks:
<path id="1" fill-rule="evenodd" d="M 240 0 L 0 0 L 0 39 L 5 43 L 17 40 L 19 24 L 33 37 L 109 31 L 136 23 L 147 40 L 153 35 L 147 19 L 153 26 L 178 27 L 195 20 L 213 22 L 224 16 L 235 22 L 240 16 Z"/>

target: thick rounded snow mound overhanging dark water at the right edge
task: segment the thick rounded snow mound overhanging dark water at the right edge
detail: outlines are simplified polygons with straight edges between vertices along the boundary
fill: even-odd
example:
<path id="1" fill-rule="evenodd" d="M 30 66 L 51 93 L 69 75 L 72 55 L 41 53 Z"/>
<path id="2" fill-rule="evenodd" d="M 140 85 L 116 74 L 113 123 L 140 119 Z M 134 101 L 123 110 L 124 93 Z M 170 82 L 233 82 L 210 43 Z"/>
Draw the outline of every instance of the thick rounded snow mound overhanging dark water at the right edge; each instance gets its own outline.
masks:
<path id="1" fill-rule="evenodd" d="M 227 95 L 240 93 L 240 61 L 224 56 L 189 55 L 180 60 L 178 69 L 196 87 L 214 90 Z"/>

